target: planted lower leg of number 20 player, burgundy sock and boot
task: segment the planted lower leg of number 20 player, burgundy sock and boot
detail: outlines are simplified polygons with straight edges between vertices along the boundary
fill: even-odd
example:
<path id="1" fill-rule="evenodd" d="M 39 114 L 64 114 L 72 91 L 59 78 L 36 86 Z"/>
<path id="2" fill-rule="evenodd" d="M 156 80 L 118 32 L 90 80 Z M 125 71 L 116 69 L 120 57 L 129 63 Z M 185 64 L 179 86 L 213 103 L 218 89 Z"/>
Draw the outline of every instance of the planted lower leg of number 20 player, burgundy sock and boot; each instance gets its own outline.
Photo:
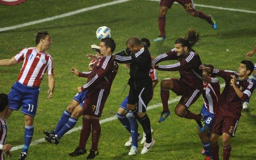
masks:
<path id="1" fill-rule="evenodd" d="M 160 31 L 159 38 L 154 39 L 154 41 L 165 41 L 165 15 L 168 11 L 168 7 L 160 6 L 159 17 L 158 17 L 158 27 Z"/>

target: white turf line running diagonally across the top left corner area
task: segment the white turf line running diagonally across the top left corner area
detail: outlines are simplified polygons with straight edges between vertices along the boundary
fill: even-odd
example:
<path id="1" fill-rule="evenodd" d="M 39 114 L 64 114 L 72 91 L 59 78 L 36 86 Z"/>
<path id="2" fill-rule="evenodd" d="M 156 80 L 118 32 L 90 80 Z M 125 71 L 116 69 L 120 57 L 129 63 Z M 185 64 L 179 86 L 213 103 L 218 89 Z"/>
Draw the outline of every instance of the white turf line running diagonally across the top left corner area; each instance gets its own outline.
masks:
<path id="1" fill-rule="evenodd" d="M 58 18 L 68 17 L 68 16 L 71 16 L 71 15 L 76 15 L 78 13 L 90 11 L 90 10 L 93 10 L 93 9 L 98 9 L 98 8 L 105 7 L 105 6 L 111 6 L 111 5 L 118 4 L 118 3 L 124 3 L 124 2 L 127 2 L 127 1 L 130 1 L 130 0 L 116 0 L 116 1 L 109 2 L 109 3 L 103 3 L 103 4 L 96 5 L 96 6 L 91 6 L 91 7 L 87 7 L 87 8 L 83 8 L 83 9 L 78 9 L 76 11 L 64 13 L 64 14 L 61 14 L 61 15 L 56 15 L 56 16 L 53 16 L 53 17 L 44 18 L 44 19 L 41 19 L 41 20 L 35 20 L 35 21 L 23 23 L 23 24 L 18 24 L 18 25 L 15 25 L 15 26 L 3 27 L 3 28 L 0 28 L 0 32 L 11 30 L 11 29 L 17 29 L 17 28 L 21 28 L 21 27 L 24 27 L 24 26 L 30 26 L 30 25 L 37 24 L 37 23 L 43 23 L 43 22 L 47 22 L 47 21 L 50 21 L 50 20 L 55 20 L 55 19 L 58 19 Z"/>

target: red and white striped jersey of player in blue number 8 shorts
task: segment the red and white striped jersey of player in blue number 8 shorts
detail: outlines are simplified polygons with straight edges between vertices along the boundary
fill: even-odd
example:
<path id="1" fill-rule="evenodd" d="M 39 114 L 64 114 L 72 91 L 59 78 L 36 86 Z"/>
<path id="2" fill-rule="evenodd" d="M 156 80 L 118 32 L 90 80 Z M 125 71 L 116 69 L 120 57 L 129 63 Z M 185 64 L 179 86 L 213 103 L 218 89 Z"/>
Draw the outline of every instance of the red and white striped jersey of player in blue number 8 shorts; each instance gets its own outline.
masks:
<path id="1" fill-rule="evenodd" d="M 218 110 L 218 101 L 221 97 L 219 80 L 211 77 L 210 83 L 203 83 L 203 102 L 206 109 L 216 114 Z"/>

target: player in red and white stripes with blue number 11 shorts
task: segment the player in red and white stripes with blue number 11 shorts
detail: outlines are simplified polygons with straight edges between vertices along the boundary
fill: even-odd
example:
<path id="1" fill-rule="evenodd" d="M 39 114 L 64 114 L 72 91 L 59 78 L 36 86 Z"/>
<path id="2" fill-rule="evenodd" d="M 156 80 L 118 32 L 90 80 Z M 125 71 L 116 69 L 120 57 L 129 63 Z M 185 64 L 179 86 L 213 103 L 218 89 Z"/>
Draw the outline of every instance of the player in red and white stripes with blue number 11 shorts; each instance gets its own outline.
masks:
<path id="1" fill-rule="evenodd" d="M 18 80 L 13 84 L 8 95 L 9 110 L 6 115 L 8 118 L 13 110 L 18 111 L 21 106 L 21 112 L 25 114 L 24 148 L 19 160 L 26 159 L 26 154 L 33 137 L 33 121 L 38 105 L 39 85 L 46 71 L 48 73 L 49 86 L 48 98 L 52 98 L 55 85 L 53 59 L 46 52 L 52 44 L 49 33 L 38 32 L 35 42 L 37 44 L 36 47 L 25 48 L 11 59 L 0 60 L 0 66 L 11 66 L 23 61 Z"/>

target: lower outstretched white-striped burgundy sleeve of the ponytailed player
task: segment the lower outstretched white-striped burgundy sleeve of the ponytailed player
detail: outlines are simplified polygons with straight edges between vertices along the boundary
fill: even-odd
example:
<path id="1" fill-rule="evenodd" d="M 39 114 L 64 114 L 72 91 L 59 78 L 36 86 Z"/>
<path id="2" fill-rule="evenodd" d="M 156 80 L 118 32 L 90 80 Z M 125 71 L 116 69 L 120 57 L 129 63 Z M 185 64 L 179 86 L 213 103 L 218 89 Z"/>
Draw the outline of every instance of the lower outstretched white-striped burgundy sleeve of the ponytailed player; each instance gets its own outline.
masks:
<path id="1" fill-rule="evenodd" d="M 197 58 L 194 52 L 190 52 L 188 57 L 185 59 L 182 59 L 182 61 L 179 61 L 175 64 L 170 65 L 159 65 L 155 66 L 157 70 L 166 70 L 166 71 L 177 71 L 177 70 L 186 70 L 191 67 L 196 67 L 198 65 Z"/>

